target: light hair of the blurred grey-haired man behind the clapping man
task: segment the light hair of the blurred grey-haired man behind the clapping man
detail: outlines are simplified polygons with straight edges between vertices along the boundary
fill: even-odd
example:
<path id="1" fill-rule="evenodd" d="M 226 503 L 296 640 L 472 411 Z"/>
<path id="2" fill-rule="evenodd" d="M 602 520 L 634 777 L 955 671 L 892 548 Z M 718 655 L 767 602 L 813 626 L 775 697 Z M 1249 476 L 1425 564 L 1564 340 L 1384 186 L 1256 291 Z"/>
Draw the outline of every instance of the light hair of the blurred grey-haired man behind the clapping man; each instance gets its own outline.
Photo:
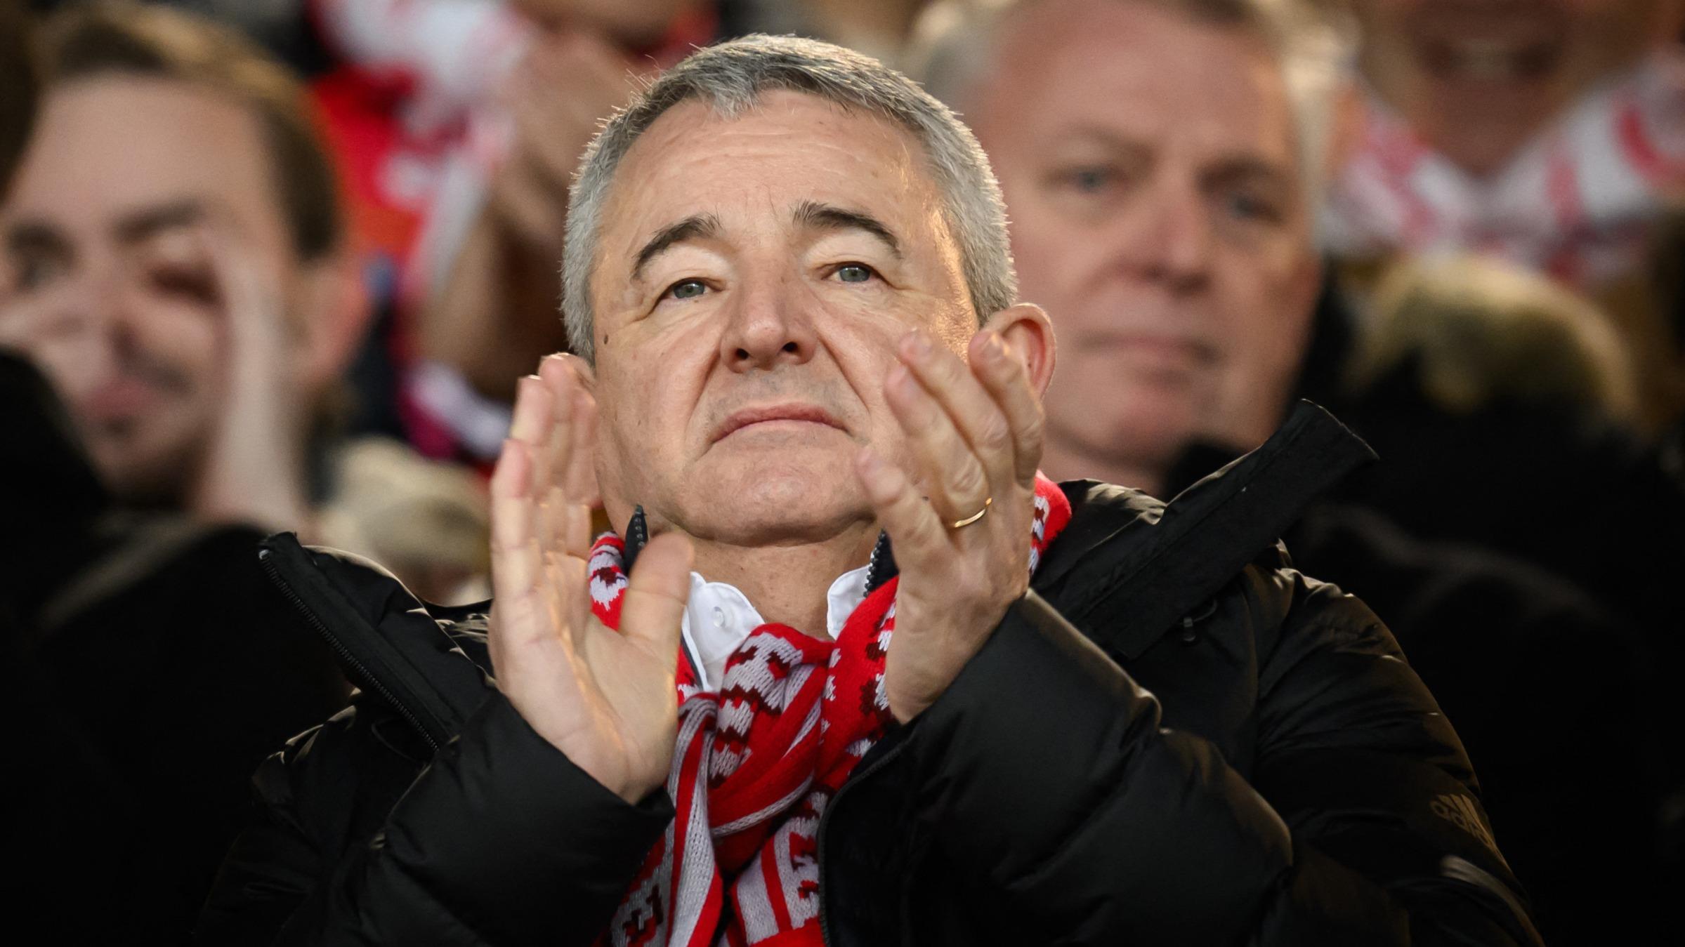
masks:
<path id="1" fill-rule="evenodd" d="M 913 27 L 907 66 L 947 104 L 964 110 L 987 76 L 1001 24 L 1041 0 L 937 0 Z M 1281 66 L 1294 113 L 1306 216 L 1316 221 L 1328 169 L 1335 88 L 1355 47 L 1350 19 L 1313 0 L 1117 0 L 1178 12 L 1262 40 Z"/>

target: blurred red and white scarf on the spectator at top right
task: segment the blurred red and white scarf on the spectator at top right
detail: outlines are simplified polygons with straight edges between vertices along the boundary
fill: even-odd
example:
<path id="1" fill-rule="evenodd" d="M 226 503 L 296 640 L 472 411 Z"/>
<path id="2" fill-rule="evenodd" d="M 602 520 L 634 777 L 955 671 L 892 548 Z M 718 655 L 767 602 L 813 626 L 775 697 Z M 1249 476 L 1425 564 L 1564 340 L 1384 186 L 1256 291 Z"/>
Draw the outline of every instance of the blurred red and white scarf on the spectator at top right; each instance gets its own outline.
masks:
<path id="1" fill-rule="evenodd" d="M 1491 175 L 1432 152 L 1368 94 L 1324 209 L 1338 256 L 1479 253 L 1594 290 L 1645 261 L 1685 189 L 1685 52 L 1586 96 Z"/>

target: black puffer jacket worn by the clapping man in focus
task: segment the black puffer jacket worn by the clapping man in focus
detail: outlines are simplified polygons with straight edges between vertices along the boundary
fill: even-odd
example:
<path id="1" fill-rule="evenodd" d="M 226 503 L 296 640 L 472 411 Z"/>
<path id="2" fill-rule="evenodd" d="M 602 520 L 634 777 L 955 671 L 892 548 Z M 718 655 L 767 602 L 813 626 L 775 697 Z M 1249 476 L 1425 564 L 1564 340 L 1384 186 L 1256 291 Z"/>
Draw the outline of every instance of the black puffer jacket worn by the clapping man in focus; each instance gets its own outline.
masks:
<path id="1" fill-rule="evenodd" d="M 1451 725 L 1272 541 L 1358 455 L 1304 408 L 1171 506 L 1067 485 L 1035 590 L 824 814 L 826 942 L 1535 944 Z M 285 536 L 265 561 L 364 693 L 258 773 L 202 942 L 591 942 L 666 794 L 538 736 L 484 615 Z"/>

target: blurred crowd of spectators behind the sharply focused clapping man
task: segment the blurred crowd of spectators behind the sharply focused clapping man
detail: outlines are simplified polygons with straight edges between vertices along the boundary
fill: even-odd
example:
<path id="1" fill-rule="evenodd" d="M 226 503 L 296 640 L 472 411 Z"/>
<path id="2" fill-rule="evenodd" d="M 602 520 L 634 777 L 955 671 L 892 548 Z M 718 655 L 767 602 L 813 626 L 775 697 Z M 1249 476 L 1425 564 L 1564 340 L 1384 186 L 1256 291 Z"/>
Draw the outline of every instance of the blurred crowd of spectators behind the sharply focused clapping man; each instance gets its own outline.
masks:
<path id="1" fill-rule="evenodd" d="M 580 153 L 696 45 L 827 39 L 991 155 L 1060 339 L 1050 474 L 1169 497 L 1329 406 L 1382 460 L 1289 548 L 1441 696 L 1547 934 L 1614 942 L 1607 858 L 1623 896 L 1685 878 L 1680 0 L 25 7 L 0 347 L 125 509 L 484 598 Z"/>

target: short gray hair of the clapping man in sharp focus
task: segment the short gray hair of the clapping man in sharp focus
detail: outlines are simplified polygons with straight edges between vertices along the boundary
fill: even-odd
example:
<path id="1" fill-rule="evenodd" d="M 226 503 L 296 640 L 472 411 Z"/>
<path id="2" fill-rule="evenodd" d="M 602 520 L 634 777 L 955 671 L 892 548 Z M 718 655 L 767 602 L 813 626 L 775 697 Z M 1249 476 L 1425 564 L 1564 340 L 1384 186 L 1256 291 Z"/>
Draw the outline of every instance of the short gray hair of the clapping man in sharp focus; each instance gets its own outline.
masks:
<path id="1" fill-rule="evenodd" d="M 942 212 L 959 244 L 960 271 L 979 322 L 1018 302 L 1006 238 L 1006 206 L 989 158 L 954 113 L 888 66 L 827 42 L 748 35 L 699 49 L 617 111 L 580 160 L 561 254 L 561 310 L 568 345 L 595 361 L 591 273 L 603 204 L 627 152 L 667 110 L 706 101 L 735 118 L 770 91 L 807 93 L 908 130 L 923 145 Z"/>

